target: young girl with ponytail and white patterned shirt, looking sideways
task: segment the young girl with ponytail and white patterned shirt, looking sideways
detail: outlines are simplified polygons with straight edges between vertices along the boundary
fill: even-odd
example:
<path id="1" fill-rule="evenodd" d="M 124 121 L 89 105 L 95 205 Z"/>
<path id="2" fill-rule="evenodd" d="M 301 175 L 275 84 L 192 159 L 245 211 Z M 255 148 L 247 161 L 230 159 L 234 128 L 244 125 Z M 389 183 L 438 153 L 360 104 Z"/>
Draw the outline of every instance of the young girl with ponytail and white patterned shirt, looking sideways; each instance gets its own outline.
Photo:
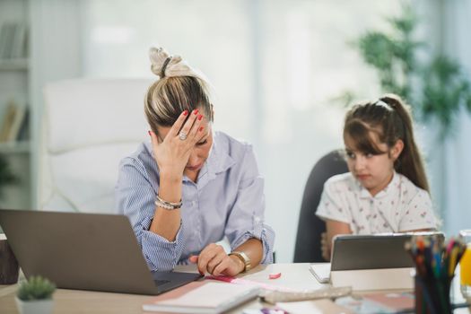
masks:
<path id="1" fill-rule="evenodd" d="M 412 118 L 397 95 L 353 106 L 344 142 L 350 172 L 327 180 L 316 212 L 327 225 L 324 258 L 336 234 L 436 228 Z"/>

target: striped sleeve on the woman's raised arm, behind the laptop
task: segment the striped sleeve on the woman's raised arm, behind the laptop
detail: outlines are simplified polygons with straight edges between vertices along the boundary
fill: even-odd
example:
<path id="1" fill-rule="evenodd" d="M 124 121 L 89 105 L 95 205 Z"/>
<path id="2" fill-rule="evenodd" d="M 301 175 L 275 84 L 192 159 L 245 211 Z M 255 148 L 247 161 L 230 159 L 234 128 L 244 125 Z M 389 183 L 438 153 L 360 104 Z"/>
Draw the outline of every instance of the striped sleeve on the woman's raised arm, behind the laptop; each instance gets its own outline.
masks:
<path id="1" fill-rule="evenodd" d="M 144 165 L 130 157 L 120 162 L 116 187 L 118 213 L 129 218 L 149 268 L 168 271 L 177 265 L 184 249 L 184 228 L 180 224 L 174 241 L 149 231 L 155 211 L 155 194 Z"/>

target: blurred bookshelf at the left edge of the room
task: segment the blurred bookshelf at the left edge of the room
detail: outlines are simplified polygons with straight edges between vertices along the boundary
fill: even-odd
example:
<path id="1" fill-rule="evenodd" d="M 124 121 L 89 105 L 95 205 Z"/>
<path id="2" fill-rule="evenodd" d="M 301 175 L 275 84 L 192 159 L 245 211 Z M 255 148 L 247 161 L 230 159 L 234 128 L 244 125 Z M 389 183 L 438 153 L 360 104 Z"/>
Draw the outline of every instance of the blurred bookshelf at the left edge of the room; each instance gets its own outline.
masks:
<path id="1" fill-rule="evenodd" d="M 18 179 L 0 187 L 0 208 L 31 208 L 29 5 L 0 0 L 0 157 Z"/>

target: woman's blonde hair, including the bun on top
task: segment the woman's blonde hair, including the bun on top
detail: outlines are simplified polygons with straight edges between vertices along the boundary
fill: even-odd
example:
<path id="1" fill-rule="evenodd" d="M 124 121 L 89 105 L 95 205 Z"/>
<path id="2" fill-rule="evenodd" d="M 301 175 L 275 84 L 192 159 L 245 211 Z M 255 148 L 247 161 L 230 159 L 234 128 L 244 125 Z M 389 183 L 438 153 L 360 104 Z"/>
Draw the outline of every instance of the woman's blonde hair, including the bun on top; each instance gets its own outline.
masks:
<path id="1" fill-rule="evenodd" d="M 147 90 L 144 112 L 155 134 L 157 126 L 172 126 L 184 110 L 199 109 L 213 121 L 209 83 L 205 76 L 179 56 L 170 56 L 163 48 L 149 51 L 151 70 L 159 76 Z"/>

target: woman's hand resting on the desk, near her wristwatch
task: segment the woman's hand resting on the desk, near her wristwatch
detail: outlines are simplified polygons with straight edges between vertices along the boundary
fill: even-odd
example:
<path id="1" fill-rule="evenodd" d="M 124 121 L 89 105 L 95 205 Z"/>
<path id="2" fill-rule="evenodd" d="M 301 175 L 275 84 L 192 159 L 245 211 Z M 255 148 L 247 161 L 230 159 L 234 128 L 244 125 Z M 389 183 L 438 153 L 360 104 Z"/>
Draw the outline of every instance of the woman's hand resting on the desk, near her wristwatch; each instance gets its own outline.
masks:
<path id="1" fill-rule="evenodd" d="M 199 255 L 189 258 L 190 262 L 197 263 L 201 275 L 238 275 L 244 268 L 239 257 L 228 256 L 222 246 L 211 243 Z"/>

